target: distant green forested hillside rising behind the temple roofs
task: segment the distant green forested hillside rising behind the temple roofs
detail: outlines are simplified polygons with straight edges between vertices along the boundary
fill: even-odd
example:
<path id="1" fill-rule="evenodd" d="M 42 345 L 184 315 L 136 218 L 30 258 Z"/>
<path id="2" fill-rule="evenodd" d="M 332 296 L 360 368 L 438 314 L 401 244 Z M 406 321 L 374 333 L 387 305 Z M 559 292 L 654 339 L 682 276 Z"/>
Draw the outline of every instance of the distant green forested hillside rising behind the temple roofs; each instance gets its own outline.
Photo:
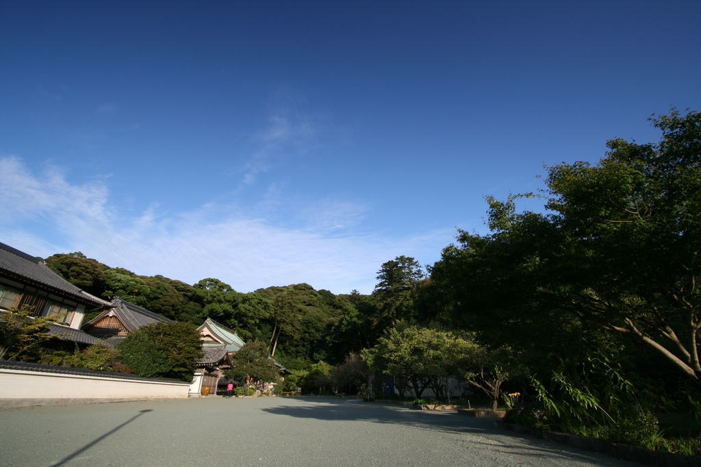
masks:
<path id="1" fill-rule="evenodd" d="M 215 278 L 189 285 L 161 275 L 139 276 L 81 252 L 53 255 L 46 264 L 96 297 L 121 297 L 195 325 L 212 318 L 247 341 L 266 341 L 275 358 L 292 369 L 320 360 L 343 363 L 349 353 L 376 344 L 396 320 L 418 320 L 423 309 L 418 292 L 428 285 L 421 265 L 404 256 L 381 266 L 372 295 L 357 290 L 334 295 L 306 283 L 241 293 Z M 88 314 L 83 322 L 96 314 Z"/>

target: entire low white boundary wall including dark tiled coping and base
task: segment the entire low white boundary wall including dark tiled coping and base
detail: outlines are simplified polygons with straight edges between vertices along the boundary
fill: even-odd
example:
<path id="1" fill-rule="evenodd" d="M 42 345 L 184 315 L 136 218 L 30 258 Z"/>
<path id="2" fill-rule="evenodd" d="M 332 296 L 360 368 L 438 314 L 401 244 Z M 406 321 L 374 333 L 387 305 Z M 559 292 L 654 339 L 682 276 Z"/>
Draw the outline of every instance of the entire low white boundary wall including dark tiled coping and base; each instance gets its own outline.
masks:
<path id="1" fill-rule="evenodd" d="M 177 379 L 0 361 L 0 407 L 186 398 L 189 386 Z"/>

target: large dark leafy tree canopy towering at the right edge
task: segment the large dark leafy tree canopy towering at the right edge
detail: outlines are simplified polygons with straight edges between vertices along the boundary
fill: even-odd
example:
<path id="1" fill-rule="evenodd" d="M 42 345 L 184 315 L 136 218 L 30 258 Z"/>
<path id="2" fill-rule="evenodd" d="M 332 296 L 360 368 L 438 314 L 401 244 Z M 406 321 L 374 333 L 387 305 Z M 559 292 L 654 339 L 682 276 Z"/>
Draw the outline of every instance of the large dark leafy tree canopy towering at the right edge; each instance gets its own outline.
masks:
<path id="1" fill-rule="evenodd" d="M 461 231 L 433 269 L 454 316 L 540 341 L 597 327 L 698 381 L 701 114 L 652 121 L 660 142 L 549 168 L 544 214 L 488 198 L 491 234 Z"/>

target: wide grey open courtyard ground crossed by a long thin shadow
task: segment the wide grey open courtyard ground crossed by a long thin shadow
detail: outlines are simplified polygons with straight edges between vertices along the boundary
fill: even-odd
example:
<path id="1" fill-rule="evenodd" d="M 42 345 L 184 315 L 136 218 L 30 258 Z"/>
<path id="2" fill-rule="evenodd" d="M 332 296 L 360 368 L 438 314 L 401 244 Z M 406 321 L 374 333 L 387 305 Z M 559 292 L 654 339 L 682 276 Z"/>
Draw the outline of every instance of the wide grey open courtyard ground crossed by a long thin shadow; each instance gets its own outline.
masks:
<path id="1" fill-rule="evenodd" d="M 493 419 L 341 398 L 0 410 L 0 466 L 638 466 Z"/>

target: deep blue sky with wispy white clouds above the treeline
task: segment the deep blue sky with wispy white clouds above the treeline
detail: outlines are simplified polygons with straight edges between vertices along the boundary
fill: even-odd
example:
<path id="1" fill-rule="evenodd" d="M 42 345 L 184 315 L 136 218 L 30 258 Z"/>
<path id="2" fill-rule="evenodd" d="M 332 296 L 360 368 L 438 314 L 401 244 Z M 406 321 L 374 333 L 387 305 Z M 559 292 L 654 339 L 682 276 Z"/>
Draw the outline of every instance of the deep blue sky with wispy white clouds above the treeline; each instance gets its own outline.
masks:
<path id="1" fill-rule="evenodd" d="M 369 293 L 701 109 L 700 52 L 699 1 L 5 0 L 0 241 Z"/>

